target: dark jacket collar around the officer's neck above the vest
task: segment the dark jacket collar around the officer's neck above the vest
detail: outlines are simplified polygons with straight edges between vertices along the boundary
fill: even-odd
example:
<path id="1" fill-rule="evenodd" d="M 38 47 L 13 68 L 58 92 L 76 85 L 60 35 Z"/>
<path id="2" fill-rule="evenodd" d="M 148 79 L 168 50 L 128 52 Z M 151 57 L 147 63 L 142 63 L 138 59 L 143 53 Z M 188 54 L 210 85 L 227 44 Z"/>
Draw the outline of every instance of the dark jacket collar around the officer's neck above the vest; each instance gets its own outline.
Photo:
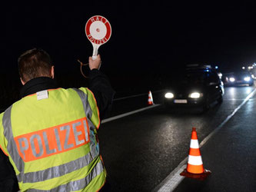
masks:
<path id="1" fill-rule="evenodd" d="M 20 97 L 24 98 L 29 94 L 35 94 L 38 91 L 43 91 L 47 89 L 58 88 L 57 83 L 52 78 L 40 77 L 33 78 L 28 81 L 21 89 Z"/>

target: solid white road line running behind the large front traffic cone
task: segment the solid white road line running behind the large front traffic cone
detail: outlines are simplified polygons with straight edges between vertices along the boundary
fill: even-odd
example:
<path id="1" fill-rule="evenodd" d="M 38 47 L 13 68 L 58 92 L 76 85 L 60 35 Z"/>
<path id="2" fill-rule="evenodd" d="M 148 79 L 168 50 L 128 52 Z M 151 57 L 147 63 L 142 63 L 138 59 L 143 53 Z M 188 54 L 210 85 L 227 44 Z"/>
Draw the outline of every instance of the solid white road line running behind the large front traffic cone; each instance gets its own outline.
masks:
<path id="1" fill-rule="evenodd" d="M 214 134 L 216 134 L 221 127 L 224 126 L 233 116 L 238 112 L 238 110 L 256 93 L 256 89 L 252 91 L 248 96 L 244 99 L 244 101 L 238 106 L 238 108 L 235 108 L 234 111 L 228 115 L 228 117 L 218 126 L 214 129 L 214 131 L 211 132 L 207 137 L 204 138 L 203 141 L 201 141 L 199 147 L 202 147 Z M 160 191 L 160 192 L 169 192 L 175 190 L 175 188 L 178 186 L 178 184 L 181 183 L 181 181 L 185 178 L 180 175 L 180 173 L 185 169 L 187 166 L 188 157 L 185 158 L 185 160 L 181 161 L 181 163 L 178 165 L 178 167 L 175 168 L 175 170 L 171 171 L 171 174 L 168 175 L 168 177 L 165 178 L 161 182 L 161 184 L 158 184 L 157 187 L 153 191 Z"/>

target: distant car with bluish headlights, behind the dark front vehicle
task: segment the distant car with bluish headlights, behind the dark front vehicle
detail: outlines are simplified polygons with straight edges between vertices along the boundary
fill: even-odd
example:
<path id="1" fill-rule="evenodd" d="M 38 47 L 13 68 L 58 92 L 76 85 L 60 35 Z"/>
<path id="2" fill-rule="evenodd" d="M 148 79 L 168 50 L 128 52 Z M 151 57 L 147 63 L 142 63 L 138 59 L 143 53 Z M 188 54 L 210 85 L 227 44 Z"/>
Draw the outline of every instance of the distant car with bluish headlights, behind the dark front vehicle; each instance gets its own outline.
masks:
<path id="1" fill-rule="evenodd" d="M 249 71 L 234 71 L 223 74 L 222 81 L 226 86 L 254 85 L 254 79 Z"/>

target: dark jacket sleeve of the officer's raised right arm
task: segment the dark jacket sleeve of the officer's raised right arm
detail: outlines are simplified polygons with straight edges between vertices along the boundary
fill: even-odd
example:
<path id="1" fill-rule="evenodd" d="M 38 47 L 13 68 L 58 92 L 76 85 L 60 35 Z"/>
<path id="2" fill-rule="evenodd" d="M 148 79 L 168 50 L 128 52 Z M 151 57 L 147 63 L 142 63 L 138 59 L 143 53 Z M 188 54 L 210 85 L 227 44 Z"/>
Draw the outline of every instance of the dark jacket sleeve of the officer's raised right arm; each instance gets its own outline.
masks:
<path id="1" fill-rule="evenodd" d="M 95 95 L 100 118 L 106 118 L 111 111 L 111 105 L 115 95 L 115 91 L 111 88 L 108 77 L 97 69 L 91 70 L 88 88 Z"/>

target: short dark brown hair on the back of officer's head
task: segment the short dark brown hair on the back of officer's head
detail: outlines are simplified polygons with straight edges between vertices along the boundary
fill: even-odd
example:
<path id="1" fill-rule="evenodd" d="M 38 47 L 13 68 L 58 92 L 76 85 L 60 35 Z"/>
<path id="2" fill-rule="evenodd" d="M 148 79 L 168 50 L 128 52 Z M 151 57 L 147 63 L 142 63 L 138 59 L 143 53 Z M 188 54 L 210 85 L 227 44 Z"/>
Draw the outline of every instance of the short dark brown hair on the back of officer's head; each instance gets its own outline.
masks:
<path id="1" fill-rule="evenodd" d="M 25 51 L 18 58 L 18 73 L 24 82 L 38 77 L 50 77 L 51 68 L 50 55 L 40 48 Z"/>

